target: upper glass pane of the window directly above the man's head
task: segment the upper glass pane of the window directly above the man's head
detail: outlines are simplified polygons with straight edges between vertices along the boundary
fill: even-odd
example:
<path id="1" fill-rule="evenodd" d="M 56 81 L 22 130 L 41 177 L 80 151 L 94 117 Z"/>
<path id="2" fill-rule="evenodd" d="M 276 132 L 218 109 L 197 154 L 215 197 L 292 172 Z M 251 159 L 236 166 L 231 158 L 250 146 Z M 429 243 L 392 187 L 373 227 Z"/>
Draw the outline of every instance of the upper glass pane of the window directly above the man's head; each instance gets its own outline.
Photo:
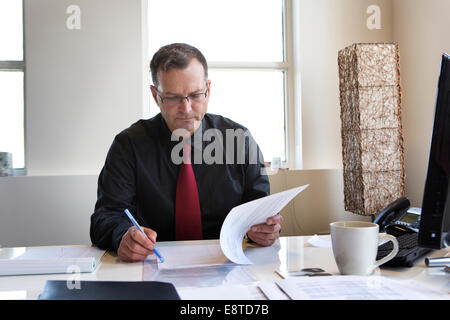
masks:
<path id="1" fill-rule="evenodd" d="M 150 0 L 148 12 L 151 55 L 184 42 L 208 61 L 283 61 L 282 0 Z"/>

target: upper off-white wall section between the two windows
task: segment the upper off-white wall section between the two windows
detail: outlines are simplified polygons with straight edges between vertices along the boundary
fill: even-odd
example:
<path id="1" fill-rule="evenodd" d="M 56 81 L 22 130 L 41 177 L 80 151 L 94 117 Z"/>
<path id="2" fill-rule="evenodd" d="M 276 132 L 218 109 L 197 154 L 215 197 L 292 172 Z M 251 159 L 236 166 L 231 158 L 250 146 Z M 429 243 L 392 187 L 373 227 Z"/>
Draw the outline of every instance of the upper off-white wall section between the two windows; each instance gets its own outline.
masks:
<path id="1" fill-rule="evenodd" d="M 66 28 L 69 5 L 80 30 Z M 28 175 L 98 174 L 142 116 L 141 1 L 25 0 L 24 13 Z"/>

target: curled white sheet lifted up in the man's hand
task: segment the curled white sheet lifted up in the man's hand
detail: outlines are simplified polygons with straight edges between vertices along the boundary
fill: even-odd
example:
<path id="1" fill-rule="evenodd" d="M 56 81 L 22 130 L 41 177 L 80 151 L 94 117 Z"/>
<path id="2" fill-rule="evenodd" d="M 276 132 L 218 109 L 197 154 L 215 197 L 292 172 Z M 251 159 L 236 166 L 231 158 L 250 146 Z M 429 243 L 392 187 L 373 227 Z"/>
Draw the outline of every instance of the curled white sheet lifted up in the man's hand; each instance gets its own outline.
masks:
<path id="1" fill-rule="evenodd" d="M 263 223 L 279 213 L 297 194 L 309 184 L 253 200 L 228 213 L 220 230 L 220 247 L 225 256 L 238 264 L 252 264 L 242 250 L 242 239 L 250 227 Z"/>

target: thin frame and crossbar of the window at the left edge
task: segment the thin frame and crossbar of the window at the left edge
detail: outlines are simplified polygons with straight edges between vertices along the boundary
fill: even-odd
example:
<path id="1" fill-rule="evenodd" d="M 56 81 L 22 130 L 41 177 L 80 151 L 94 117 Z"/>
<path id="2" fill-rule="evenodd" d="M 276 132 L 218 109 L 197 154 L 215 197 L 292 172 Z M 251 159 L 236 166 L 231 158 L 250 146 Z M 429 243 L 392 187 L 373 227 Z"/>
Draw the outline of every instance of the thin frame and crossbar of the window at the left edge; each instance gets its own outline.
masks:
<path id="1" fill-rule="evenodd" d="M 22 60 L 0 60 L 0 72 L 23 72 L 23 130 L 24 130 L 24 163 L 23 168 L 12 168 L 10 176 L 25 176 L 27 174 L 27 144 L 26 144 L 26 67 L 25 67 L 25 9 L 22 0 Z"/>

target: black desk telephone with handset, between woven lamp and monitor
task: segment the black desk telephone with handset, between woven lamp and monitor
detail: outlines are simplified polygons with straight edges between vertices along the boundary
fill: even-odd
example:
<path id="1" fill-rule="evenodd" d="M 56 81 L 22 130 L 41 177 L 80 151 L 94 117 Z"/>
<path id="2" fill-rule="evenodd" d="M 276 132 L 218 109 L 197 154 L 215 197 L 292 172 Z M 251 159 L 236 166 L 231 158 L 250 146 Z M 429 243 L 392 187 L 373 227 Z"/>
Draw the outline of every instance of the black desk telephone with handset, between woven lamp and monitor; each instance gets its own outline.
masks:
<path id="1" fill-rule="evenodd" d="M 410 208 L 408 198 L 398 198 L 390 203 L 373 221 L 380 226 L 380 232 L 393 235 L 419 232 L 420 208 Z"/>

